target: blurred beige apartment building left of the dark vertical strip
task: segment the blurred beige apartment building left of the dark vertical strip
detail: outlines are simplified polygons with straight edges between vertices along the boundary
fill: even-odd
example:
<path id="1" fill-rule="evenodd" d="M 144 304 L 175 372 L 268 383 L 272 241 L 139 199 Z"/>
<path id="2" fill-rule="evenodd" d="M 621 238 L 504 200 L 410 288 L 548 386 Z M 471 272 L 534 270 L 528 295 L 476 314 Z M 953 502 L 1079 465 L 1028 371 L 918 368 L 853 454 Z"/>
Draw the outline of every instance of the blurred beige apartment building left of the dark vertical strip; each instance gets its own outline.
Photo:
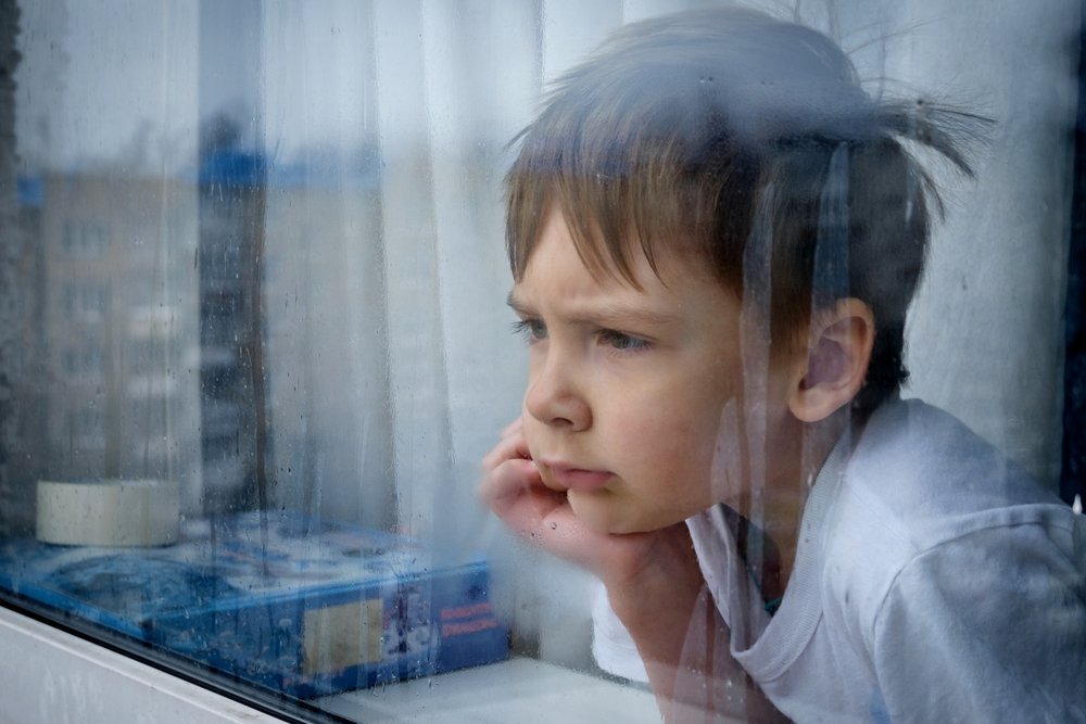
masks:
<path id="1" fill-rule="evenodd" d="M 199 486 L 195 193 L 111 173 L 26 179 L 20 462 L 36 478 Z"/>

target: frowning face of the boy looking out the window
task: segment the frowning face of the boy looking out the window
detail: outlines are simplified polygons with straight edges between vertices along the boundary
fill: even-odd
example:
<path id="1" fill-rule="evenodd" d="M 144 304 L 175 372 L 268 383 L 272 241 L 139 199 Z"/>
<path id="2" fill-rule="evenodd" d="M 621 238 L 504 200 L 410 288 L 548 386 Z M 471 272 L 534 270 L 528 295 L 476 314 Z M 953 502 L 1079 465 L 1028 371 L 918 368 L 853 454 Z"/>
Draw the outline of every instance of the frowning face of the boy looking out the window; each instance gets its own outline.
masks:
<path id="1" fill-rule="evenodd" d="M 634 256 L 641 291 L 593 278 L 552 211 L 509 295 L 529 340 L 532 459 L 544 484 L 608 533 L 657 530 L 716 503 L 745 507 L 740 301 L 693 264 L 660 258 L 657 277 Z M 758 416 L 782 429 L 786 384 L 765 381 Z M 715 468 L 718 455 L 732 459 Z M 738 474 L 721 473 L 729 468 Z"/>

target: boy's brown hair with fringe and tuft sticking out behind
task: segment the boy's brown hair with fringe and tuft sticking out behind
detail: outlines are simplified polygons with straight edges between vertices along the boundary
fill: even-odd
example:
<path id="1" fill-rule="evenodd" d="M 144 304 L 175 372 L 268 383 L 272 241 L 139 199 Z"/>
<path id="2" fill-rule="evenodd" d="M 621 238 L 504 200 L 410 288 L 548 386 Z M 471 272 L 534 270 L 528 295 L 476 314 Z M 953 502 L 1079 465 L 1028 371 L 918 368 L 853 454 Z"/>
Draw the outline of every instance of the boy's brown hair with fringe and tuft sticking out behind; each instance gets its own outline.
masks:
<path id="1" fill-rule="evenodd" d="M 774 355 L 812 310 L 855 296 L 877 330 L 868 412 L 908 376 L 906 309 L 921 277 L 929 176 L 902 148 L 954 142 L 977 116 L 923 101 L 876 103 L 825 36 L 753 11 L 679 13 L 628 25 L 556 82 L 515 140 L 506 243 L 525 272 L 543 217 L 561 211 L 593 274 L 630 283 L 630 254 L 706 264 L 755 297 Z M 640 246 L 639 246 L 640 242 Z"/>

